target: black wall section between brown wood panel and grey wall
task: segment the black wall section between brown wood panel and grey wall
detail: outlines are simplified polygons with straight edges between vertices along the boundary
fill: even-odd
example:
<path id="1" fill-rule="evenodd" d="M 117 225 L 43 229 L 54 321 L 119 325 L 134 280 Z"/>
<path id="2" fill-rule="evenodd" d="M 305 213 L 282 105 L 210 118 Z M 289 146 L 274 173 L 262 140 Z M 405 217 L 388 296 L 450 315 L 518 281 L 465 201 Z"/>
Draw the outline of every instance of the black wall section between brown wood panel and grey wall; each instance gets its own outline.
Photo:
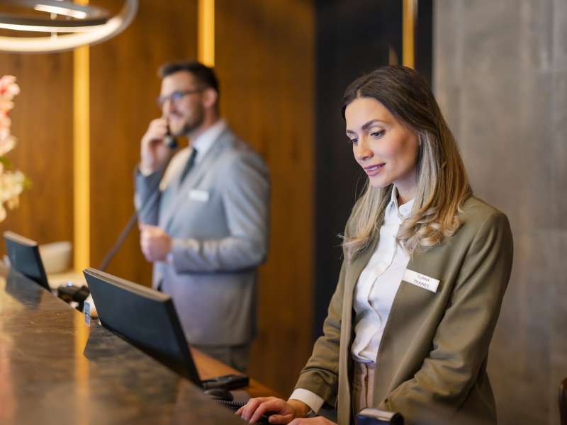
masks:
<path id="1" fill-rule="evenodd" d="M 366 176 L 344 135 L 340 116 L 347 85 L 366 72 L 399 64 L 402 57 L 402 1 L 318 0 L 315 70 L 315 292 L 313 330 L 321 334 L 337 284 L 340 239 Z M 431 1 L 420 1 L 416 67 L 431 80 Z"/>

